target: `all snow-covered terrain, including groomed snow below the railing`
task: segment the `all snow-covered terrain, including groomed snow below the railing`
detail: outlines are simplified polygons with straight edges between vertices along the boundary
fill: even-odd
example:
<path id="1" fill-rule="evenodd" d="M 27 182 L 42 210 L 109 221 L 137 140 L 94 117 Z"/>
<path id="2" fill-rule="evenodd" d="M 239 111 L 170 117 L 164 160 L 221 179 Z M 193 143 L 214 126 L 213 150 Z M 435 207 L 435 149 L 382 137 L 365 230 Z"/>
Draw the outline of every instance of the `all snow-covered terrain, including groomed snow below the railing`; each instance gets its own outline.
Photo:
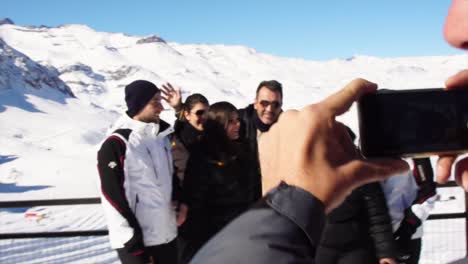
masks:
<path id="1" fill-rule="evenodd" d="M 9 62 L 0 72 L 0 201 L 97 197 L 98 143 L 125 110 L 123 88 L 135 79 L 171 82 L 184 97 L 200 92 L 211 103 L 228 100 L 239 108 L 253 101 L 259 82 L 276 79 L 284 86 L 284 108 L 291 109 L 317 102 L 357 77 L 390 89 L 434 88 L 468 68 L 466 54 L 312 61 L 86 25 L 0 25 L 0 40 L 0 60 Z M 61 81 L 71 93 L 31 76 Z M 162 118 L 172 122 L 173 114 L 167 109 Z M 354 108 L 340 120 L 357 131 Z M 450 189 L 435 212 L 464 210 L 464 193 Z M 98 205 L 0 209 L 0 233 L 104 228 Z M 421 263 L 462 257 L 464 230 L 458 220 L 430 222 Z M 0 240 L 0 263 L 118 263 L 106 239 Z"/>

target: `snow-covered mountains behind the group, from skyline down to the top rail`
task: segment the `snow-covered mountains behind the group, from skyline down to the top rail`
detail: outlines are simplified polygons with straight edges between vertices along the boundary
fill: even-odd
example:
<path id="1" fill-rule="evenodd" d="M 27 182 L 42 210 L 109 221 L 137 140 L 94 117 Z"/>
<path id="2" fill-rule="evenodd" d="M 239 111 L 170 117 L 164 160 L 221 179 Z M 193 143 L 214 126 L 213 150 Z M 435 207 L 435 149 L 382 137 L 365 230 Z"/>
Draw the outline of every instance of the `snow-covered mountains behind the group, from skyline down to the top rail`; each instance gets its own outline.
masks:
<path id="1" fill-rule="evenodd" d="M 277 79 L 288 109 L 321 100 L 356 77 L 394 89 L 442 87 L 468 67 L 466 55 L 310 61 L 243 46 L 12 21 L 0 25 L 0 45 L 0 182 L 50 185 L 29 196 L 96 195 L 96 144 L 125 109 L 123 87 L 135 79 L 169 81 L 184 96 L 201 92 L 211 102 L 229 100 L 238 107 L 252 101 L 260 81 Z M 356 129 L 353 113 L 343 120 Z M 163 114 L 169 121 L 172 116 Z M 77 181 L 83 188 L 70 191 L 67 186 Z"/>

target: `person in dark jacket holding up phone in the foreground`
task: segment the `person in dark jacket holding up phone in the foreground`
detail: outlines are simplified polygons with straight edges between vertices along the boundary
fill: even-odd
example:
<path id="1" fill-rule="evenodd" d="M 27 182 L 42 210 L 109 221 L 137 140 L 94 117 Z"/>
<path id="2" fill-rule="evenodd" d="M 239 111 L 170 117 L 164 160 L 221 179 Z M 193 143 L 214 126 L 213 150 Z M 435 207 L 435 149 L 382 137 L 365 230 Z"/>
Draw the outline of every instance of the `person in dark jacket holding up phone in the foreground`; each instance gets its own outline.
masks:
<path id="1" fill-rule="evenodd" d="M 449 43 L 464 49 L 468 49 L 466 14 L 468 2 L 454 0 L 445 25 Z M 449 89 L 467 85 L 468 70 L 447 82 Z M 351 140 L 345 139 L 345 132 L 335 120 L 363 94 L 376 88 L 357 79 L 317 104 L 285 113 L 262 139 L 259 149 L 262 169 L 271 181 L 269 185 L 276 186 L 275 182 L 280 181 L 290 185 L 281 184 L 272 190 L 262 199 L 264 208 L 251 208 L 237 218 L 192 263 L 315 263 L 316 242 L 325 212 L 340 204 L 355 187 L 408 170 L 407 164 L 399 160 L 363 161 L 354 156 Z M 302 130 L 296 130 L 299 127 Z M 289 140 L 291 137 L 293 140 Z M 282 151 L 274 152 L 277 149 Z M 282 160 L 289 162 L 284 164 Z M 453 156 L 439 160 L 440 182 L 448 180 L 454 161 Z M 468 174 L 462 173 L 468 169 L 467 161 L 467 158 L 461 161 L 456 173 L 465 190 Z M 249 229 L 250 226 L 255 229 Z M 466 259 L 456 263 L 466 263 Z"/>

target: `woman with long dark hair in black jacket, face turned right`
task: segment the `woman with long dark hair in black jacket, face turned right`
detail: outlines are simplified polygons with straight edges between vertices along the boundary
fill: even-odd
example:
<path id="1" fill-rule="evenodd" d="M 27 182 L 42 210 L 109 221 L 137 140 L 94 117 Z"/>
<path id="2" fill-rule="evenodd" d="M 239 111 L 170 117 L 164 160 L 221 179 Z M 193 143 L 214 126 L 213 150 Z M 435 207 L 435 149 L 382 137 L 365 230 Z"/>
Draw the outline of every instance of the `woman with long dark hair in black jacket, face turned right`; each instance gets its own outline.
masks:
<path id="1" fill-rule="evenodd" d="M 248 177 L 255 169 L 239 142 L 239 115 L 228 102 L 210 106 L 204 136 L 190 155 L 184 193 L 190 208 L 181 237 L 182 263 L 249 206 Z"/>

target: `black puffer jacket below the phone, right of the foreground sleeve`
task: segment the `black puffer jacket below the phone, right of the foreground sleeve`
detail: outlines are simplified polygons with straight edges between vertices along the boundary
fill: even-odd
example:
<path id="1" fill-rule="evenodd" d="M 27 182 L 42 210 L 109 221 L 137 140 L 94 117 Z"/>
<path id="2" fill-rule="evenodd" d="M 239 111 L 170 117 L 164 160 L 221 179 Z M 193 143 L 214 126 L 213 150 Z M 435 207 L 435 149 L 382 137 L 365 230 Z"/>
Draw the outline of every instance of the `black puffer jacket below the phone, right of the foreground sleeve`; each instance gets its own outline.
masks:
<path id="1" fill-rule="evenodd" d="M 396 257 L 391 220 L 379 183 L 354 190 L 327 216 L 316 260 L 321 264 L 342 263 L 340 259 L 354 252 L 365 254 L 356 254 L 358 257 L 348 258 L 347 263 L 378 263 L 381 258 Z M 369 258 L 362 259 L 364 255 Z"/>

